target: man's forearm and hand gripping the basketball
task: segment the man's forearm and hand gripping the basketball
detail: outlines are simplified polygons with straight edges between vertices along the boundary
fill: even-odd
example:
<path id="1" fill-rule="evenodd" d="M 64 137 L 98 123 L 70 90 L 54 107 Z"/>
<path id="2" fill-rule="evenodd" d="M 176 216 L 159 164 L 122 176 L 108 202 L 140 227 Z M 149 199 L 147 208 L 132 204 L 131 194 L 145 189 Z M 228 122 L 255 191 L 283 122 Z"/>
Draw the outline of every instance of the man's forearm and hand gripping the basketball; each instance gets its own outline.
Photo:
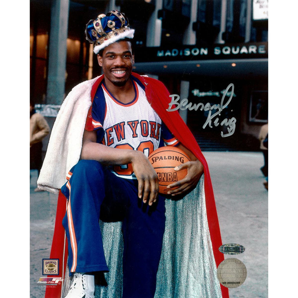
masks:
<path id="1" fill-rule="evenodd" d="M 190 190 L 193 190 L 204 173 L 203 165 L 190 150 L 182 144 L 179 144 L 177 147 L 183 150 L 190 157 L 190 162 L 185 162 L 184 164 L 180 164 L 178 167 L 174 168 L 175 171 L 187 169 L 187 175 L 183 179 L 167 186 L 167 188 L 178 187 L 168 192 L 168 194 L 172 196 L 185 195 Z"/>

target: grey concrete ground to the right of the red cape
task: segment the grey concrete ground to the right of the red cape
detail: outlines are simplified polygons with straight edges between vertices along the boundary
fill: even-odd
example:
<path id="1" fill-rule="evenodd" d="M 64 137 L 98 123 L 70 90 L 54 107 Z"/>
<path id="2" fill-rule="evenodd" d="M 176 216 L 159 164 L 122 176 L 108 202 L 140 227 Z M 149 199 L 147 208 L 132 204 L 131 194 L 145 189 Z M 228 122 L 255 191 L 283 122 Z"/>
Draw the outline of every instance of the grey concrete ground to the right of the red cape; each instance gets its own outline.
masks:
<path id="1" fill-rule="evenodd" d="M 230 288 L 230 298 L 268 297 L 268 191 L 259 152 L 204 152 L 211 174 L 223 244 L 245 247 L 238 255 L 245 282 Z"/>

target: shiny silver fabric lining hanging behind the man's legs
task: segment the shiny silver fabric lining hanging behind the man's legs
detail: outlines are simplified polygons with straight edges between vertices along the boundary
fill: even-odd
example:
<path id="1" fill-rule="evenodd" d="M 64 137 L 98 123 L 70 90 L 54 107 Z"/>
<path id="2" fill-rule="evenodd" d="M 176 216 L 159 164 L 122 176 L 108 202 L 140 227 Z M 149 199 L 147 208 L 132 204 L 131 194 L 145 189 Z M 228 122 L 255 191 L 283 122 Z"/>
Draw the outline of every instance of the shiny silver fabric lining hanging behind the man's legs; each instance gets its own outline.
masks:
<path id="1" fill-rule="evenodd" d="M 121 298 L 121 223 L 100 222 L 100 226 L 110 271 L 105 273 L 108 286 L 96 285 L 95 298 Z M 66 272 L 62 297 L 70 284 Z M 195 190 L 182 200 L 166 200 L 166 226 L 154 298 L 222 298 L 208 228 L 204 175 Z"/>

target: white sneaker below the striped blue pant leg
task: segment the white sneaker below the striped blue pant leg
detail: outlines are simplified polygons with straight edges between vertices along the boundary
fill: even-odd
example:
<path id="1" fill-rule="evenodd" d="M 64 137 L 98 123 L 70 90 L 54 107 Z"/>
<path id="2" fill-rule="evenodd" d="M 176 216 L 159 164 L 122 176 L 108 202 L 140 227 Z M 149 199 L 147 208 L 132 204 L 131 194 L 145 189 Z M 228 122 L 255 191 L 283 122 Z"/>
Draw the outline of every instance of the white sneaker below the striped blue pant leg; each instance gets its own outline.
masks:
<path id="1" fill-rule="evenodd" d="M 64 298 L 94 298 L 94 275 L 75 273 L 72 285 Z"/>

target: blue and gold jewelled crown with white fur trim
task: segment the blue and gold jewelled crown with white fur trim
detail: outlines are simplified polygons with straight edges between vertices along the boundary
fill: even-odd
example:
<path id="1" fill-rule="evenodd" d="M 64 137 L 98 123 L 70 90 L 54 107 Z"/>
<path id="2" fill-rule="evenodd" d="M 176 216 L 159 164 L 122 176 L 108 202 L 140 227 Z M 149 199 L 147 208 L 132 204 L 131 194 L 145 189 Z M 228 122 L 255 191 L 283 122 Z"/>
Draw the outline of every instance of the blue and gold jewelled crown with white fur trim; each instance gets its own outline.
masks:
<path id="1" fill-rule="evenodd" d="M 128 19 L 118 10 L 98 15 L 86 25 L 86 39 L 94 44 L 94 53 L 123 38 L 133 38 L 134 29 L 129 28 Z"/>

